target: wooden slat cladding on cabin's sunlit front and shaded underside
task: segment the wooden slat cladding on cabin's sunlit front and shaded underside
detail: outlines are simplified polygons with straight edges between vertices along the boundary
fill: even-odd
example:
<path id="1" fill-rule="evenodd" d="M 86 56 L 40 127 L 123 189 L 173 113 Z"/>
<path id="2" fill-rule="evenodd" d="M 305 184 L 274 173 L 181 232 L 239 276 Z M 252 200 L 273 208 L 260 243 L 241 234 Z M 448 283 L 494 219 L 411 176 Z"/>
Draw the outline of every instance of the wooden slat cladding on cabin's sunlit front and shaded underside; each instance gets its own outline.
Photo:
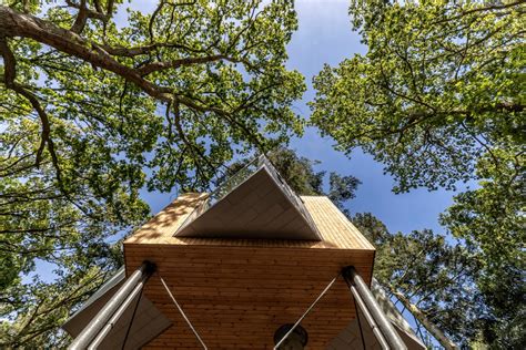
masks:
<path id="1" fill-rule="evenodd" d="M 181 196 L 124 243 L 127 271 L 144 259 L 181 303 L 210 349 L 271 349 L 274 331 L 294 322 L 347 265 L 370 282 L 374 248 L 326 197 L 302 197 L 323 241 L 176 238 L 205 196 Z M 199 349 L 154 276 L 148 298 L 173 325 L 146 348 Z M 308 349 L 324 349 L 355 318 L 343 279 L 307 316 Z"/>

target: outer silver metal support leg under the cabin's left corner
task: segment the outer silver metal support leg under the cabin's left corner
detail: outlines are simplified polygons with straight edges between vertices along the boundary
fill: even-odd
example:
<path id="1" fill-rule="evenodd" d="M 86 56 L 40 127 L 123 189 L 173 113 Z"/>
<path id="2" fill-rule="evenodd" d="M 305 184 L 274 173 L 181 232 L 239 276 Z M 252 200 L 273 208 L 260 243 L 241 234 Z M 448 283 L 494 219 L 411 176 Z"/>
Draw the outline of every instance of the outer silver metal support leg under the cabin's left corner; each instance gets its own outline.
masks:
<path id="1" fill-rule="evenodd" d="M 73 340 L 70 344 L 70 350 L 84 350 L 87 349 L 95 337 L 105 328 L 111 320 L 112 316 L 120 309 L 120 307 L 127 301 L 133 290 L 142 281 L 145 281 L 148 277 L 155 270 L 155 266 L 149 261 L 144 261 L 142 266 L 136 269 L 127 281 L 119 288 L 113 297 L 102 307 L 97 316 L 85 326 L 79 337 Z"/>

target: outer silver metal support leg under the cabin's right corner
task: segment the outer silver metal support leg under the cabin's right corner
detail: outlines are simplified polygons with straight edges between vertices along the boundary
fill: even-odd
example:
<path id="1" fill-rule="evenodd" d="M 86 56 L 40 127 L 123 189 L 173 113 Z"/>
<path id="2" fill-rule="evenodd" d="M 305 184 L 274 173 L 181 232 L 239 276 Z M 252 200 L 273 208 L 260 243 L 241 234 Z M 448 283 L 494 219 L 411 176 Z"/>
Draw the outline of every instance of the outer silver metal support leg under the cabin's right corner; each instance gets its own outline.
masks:
<path id="1" fill-rule="evenodd" d="M 387 319 L 384 311 L 376 302 L 376 299 L 374 298 L 373 294 L 367 288 L 367 285 L 364 282 L 356 269 L 353 266 L 346 267 L 343 270 L 343 276 L 350 285 L 353 296 L 354 292 L 356 292 L 356 295 L 360 297 L 362 303 L 360 303 L 358 299 L 356 299 L 356 301 L 362 308 L 363 313 L 365 315 L 366 312 L 370 312 L 372 318 L 374 319 L 374 322 L 378 326 L 377 329 L 380 329 L 380 332 L 385 339 L 385 342 L 387 342 L 388 348 L 394 350 L 406 350 L 407 347 L 405 346 L 404 341 L 402 340 L 402 338 L 399 338 L 393 325 L 391 325 L 391 321 Z M 380 341 L 381 340 L 378 339 L 378 342 Z"/>

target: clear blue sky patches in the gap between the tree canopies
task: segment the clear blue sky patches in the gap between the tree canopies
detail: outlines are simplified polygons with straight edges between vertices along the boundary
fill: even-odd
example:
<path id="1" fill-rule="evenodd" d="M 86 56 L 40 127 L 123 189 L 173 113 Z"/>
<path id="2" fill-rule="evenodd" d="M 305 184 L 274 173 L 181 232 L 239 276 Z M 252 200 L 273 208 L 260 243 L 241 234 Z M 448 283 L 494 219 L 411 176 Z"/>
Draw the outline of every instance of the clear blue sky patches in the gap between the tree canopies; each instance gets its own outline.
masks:
<path id="1" fill-rule="evenodd" d="M 300 0 L 296 11 L 300 28 L 289 44 L 289 69 L 305 75 L 308 86 L 302 101 L 295 103 L 296 112 L 305 119 L 310 116 L 306 105 L 315 91 L 312 78 L 323 64 L 336 65 L 355 53 L 365 53 L 366 47 L 360 43 L 360 35 L 352 31 L 347 13 L 348 0 Z M 352 213 L 371 212 L 383 220 L 391 231 L 411 231 L 433 228 L 442 233 L 438 214 L 452 204 L 452 192 L 428 192 L 421 188 L 411 193 L 392 193 L 393 179 L 383 174 L 382 164 L 371 156 L 354 152 L 352 158 L 333 150 L 334 141 L 322 138 L 315 128 L 307 128 L 301 138 L 291 143 L 300 155 L 322 163 L 318 169 L 352 174 L 362 181 L 356 198 L 350 202 Z M 174 199 L 170 194 L 143 193 L 152 213 L 156 213 Z"/>

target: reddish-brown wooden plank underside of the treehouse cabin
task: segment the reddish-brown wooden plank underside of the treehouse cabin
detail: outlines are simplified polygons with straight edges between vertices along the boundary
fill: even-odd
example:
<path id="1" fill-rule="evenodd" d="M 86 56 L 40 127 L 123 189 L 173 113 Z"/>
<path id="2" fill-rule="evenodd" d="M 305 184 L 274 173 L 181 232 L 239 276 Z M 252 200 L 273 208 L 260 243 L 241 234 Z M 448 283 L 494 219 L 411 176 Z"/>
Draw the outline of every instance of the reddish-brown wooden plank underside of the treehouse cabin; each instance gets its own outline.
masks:
<path id="1" fill-rule="evenodd" d="M 145 246 L 125 246 L 130 271 L 146 256 L 156 259 L 159 275 L 211 349 L 272 348 L 274 331 L 294 322 L 341 267 L 353 264 L 368 277 L 373 260 L 373 251 L 345 249 Z M 198 349 L 156 276 L 145 295 L 174 322 L 146 348 Z M 353 318 L 351 295 L 340 280 L 303 323 L 310 349 L 323 349 Z"/>

